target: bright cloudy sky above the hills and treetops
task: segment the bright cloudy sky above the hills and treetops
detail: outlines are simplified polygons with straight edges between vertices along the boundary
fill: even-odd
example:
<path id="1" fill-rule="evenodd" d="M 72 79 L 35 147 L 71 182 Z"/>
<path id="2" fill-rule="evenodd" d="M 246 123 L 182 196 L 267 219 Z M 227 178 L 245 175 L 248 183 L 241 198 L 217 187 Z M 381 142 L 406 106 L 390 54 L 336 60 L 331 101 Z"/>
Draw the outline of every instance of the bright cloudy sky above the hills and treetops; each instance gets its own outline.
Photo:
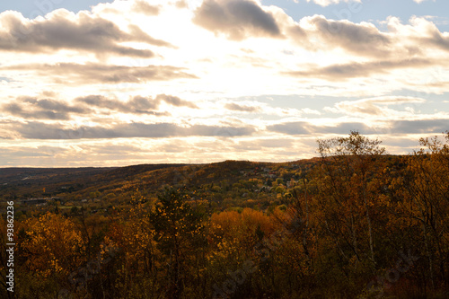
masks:
<path id="1" fill-rule="evenodd" d="M 449 129 L 449 1 L 0 3 L 0 167 L 286 162 Z"/>

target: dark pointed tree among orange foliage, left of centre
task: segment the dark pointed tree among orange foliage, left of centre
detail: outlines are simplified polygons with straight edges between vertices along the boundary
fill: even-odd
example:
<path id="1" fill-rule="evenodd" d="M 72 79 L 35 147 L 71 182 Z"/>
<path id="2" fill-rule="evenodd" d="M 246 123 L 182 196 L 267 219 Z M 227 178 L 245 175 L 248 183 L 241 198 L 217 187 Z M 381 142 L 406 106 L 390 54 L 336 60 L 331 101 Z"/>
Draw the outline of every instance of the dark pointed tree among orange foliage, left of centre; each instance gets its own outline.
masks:
<path id="1" fill-rule="evenodd" d="M 137 189 L 131 196 L 124 213 L 110 224 L 110 230 L 104 238 L 104 244 L 117 248 L 118 259 L 110 268 L 117 272 L 114 295 L 123 298 L 138 296 L 151 298 L 163 288 L 159 279 L 160 251 L 154 241 L 154 229 L 150 223 L 149 211 L 153 201 L 145 198 Z M 113 267 L 112 267 L 113 266 Z M 105 279 L 106 280 L 106 279 Z"/>

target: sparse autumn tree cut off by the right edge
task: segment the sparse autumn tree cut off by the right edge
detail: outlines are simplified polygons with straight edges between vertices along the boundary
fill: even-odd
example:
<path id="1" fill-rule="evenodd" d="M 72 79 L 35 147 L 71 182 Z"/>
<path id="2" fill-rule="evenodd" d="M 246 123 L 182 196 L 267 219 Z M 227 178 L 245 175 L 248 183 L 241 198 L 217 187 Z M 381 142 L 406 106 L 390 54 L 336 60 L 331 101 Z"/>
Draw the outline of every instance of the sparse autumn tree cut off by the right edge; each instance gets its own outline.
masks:
<path id="1" fill-rule="evenodd" d="M 435 288 L 437 281 L 447 285 L 449 264 L 449 132 L 421 138 L 421 148 L 409 156 L 403 187 L 409 204 L 402 212 L 421 231 L 416 233 L 424 244 L 427 276 Z"/>

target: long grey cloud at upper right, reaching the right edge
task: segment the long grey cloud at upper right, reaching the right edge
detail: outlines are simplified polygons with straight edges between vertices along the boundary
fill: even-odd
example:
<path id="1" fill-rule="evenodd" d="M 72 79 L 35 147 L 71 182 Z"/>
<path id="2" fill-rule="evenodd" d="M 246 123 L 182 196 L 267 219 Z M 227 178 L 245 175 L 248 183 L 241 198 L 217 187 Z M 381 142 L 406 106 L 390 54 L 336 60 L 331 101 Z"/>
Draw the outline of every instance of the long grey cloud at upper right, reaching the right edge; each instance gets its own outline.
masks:
<path id="1" fill-rule="evenodd" d="M 280 22 L 281 19 L 284 22 Z M 409 24 L 402 24 L 399 18 L 389 17 L 384 22 L 388 26 L 385 32 L 371 22 L 330 20 L 317 14 L 293 22 L 277 13 L 277 22 L 284 25 L 288 38 L 302 48 L 326 52 L 343 49 L 358 57 L 383 59 L 426 57 L 430 49 L 449 51 L 449 33 L 439 31 L 436 24 L 427 19 L 413 16 Z"/>

